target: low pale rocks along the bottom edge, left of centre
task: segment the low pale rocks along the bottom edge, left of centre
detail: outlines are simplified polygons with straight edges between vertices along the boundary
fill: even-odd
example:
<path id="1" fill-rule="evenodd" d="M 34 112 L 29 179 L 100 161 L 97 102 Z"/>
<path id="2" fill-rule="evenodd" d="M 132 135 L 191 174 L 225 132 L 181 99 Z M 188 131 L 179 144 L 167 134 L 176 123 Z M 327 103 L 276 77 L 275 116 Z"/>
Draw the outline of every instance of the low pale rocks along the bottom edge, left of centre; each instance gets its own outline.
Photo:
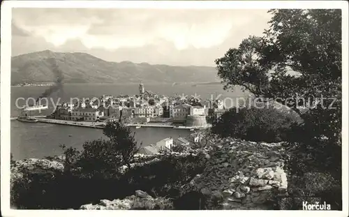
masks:
<path id="1" fill-rule="evenodd" d="M 172 202 L 163 197 L 151 197 L 142 190 L 123 200 L 101 200 L 98 204 L 84 204 L 80 209 L 172 209 Z"/>

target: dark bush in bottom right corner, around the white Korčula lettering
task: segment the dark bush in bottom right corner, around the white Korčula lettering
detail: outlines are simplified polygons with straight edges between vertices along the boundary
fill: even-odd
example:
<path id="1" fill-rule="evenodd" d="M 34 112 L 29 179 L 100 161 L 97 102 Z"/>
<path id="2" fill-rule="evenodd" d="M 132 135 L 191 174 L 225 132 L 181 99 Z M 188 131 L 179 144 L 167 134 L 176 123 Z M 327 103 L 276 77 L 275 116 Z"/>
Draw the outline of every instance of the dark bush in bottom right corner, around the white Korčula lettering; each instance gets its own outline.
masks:
<path id="1" fill-rule="evenodd" d="M 279 209 L 302 209 L 302 202 L 331 204 L 332 210 L 342 209 L 341 179 L 336 172 L 328 172 L 313 151 L 296 146 L 292 158 L 286 163 L 288 172 L 288 195 L 279 197 Z"/>

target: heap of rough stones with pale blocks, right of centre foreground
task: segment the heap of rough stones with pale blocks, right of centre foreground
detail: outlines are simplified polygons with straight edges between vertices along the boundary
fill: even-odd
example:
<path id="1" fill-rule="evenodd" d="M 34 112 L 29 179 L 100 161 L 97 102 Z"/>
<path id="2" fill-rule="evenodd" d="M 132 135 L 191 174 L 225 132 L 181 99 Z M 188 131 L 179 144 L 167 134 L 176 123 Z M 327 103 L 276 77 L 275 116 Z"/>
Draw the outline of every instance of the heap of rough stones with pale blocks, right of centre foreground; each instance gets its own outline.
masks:
<path id="1" fill-rule="evenodd" d="M 285 192 L 283 143 L 216 140 L 202 174 L 183 186 L 210 198 L 209 209 L 271 209 L 267 202 Z"/>

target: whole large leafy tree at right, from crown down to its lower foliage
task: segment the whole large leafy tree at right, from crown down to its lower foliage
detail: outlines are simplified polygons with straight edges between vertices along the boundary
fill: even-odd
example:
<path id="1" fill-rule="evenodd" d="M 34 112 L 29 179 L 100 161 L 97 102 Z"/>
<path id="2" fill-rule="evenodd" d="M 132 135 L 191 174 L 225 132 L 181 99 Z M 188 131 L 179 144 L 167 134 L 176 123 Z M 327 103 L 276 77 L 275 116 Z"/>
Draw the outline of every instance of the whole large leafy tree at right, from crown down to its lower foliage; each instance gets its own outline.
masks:
<path id="1" fill-rule="evenodd" d="M 327 147 L 340 149 L 341 10 L 269 13 L 264 36 L 250 36 L 216 59 L 224 88 L 239 85 L 297 112 L 304 119 L 297 126 L 304 136 L 292 142 L 316 146 L 325 139 Z"/>

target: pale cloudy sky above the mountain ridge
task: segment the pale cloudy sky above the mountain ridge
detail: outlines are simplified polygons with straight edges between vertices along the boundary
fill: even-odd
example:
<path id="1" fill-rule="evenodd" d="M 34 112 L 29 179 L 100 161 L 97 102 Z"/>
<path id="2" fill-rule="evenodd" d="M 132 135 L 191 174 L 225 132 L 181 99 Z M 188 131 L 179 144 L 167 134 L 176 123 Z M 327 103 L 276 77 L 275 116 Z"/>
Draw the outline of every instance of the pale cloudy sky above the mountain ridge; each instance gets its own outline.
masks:
<path id="1" fill-rule="evenodd" d="M 267 10 L 13 8 L 12 56 L 52 50 L 106 61 L 215 66 L 230 47 L 262 36 Z"/>

